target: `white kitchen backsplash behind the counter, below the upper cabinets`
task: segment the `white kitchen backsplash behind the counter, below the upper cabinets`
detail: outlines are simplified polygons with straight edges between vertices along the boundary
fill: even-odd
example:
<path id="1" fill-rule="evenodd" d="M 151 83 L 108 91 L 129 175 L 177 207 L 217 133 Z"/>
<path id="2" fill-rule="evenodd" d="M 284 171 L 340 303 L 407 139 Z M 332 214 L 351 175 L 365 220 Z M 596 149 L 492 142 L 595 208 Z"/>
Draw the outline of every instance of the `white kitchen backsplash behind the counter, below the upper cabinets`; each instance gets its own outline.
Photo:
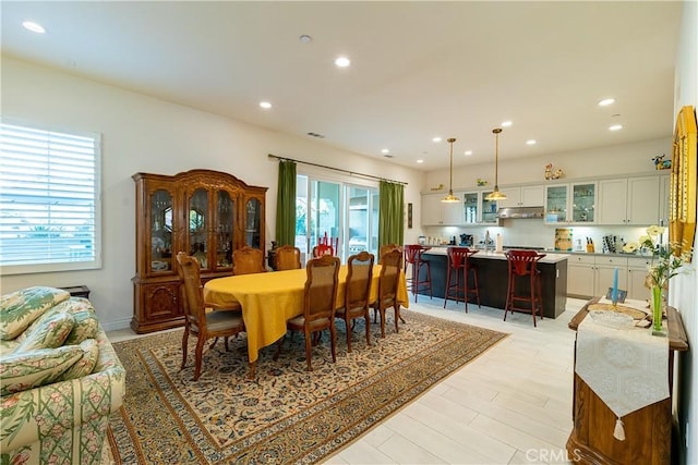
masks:
<path id="1" fill-rule="evenodd" d="M 426 227 L 423 229 L 424 236 L 446 243 L 456 238 L 460 241 L 460 234 L 472 234 L 474 244 L 484 241 L 490 232 L 490 237 L 502 234 L 504 246 L 531 246 L 554 249 L 555 229 L 568 228 L 571 230 L 573 250 L 580 248 L 587 250 L 587 240 L 594 245 L 594 252 L 600 254 L 603 250 L 604 236 L 616 237 L 616 244 L 637 241 L 639 236 L 646 234 L 646 229 L 650 224 L 642 227 L 593 227 L 593 225 L 566 225 L 545 224 L 543 220 L 531 219 L 509 219 L 503 220 L 502 225 L 473 225 L 473 227 Z M 666 234 L 664 240 L 666 240 Z M 607 241 L 606 241 L 607 242 Z M 619 250 L 617 250 L 619 252 Z"/>

